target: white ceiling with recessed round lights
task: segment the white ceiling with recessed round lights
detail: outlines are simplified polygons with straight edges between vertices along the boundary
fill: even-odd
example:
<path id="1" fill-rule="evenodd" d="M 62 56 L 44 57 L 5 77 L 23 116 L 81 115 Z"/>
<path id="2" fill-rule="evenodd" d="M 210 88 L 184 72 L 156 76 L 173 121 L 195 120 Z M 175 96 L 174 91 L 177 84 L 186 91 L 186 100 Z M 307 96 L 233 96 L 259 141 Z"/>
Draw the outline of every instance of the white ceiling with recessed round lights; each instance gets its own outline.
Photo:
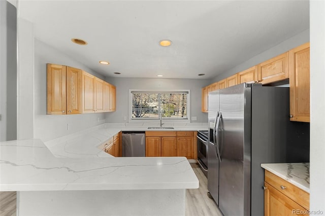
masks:
<path id="1" fill-rule="evenodd" d="M 107 77 L 208 79 L 308 29 L 309 1 L 20 0 L 18 16 Z"/>

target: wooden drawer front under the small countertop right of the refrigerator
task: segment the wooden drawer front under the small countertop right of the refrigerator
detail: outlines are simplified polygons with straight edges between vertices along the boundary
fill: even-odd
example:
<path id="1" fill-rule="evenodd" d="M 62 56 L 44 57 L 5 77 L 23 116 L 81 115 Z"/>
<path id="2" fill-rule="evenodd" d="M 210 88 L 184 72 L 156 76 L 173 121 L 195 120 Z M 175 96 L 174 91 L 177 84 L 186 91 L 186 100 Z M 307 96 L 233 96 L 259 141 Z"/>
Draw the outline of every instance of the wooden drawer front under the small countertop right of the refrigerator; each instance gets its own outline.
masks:
<path id="1" fill-rule="evenodd" d="M 265 182 L 309 210 L 309 193 L 301 190 L 268 170 L 265 170 Z"/>

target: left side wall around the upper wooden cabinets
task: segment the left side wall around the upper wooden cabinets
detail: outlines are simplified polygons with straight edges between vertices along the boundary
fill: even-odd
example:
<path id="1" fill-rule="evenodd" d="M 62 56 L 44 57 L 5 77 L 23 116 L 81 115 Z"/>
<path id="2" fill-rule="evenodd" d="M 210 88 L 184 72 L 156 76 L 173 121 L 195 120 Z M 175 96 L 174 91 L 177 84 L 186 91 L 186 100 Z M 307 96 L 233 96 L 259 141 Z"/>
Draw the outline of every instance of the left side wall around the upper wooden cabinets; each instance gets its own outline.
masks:
<path id="1" fill-rule="evenodd" d="M 43 141 L 105 123 L 105 114 L 46 115 L 46 63 L 69 65 L 104 79 L 93 70 L 55 48 L 35 39 L 35 127 L 34 137 Z M 98 121 L 99 119 L 99 121 Z M 69 130 L 67 130 L 67 124 Z"/>

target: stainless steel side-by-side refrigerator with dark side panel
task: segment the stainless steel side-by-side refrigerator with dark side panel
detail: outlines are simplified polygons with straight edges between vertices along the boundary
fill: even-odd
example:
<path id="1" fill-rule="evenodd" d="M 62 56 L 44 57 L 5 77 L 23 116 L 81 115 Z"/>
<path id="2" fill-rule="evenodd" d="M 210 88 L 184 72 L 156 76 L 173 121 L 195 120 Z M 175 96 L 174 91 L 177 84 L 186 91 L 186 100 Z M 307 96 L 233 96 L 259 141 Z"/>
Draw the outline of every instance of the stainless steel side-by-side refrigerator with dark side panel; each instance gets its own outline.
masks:
<path id="1" fill-rule="evenodd" d="M 288 116 L 285 87 L 240 84 L 209 93 L 208 190 L 224 215 L 264 214 L 261 163 L 309 161 L 309 124 Z M 308 130 L 308 143 L 290 140 L 300 130 Z M 295 145 L 308 156 L 290 154 Z"/>

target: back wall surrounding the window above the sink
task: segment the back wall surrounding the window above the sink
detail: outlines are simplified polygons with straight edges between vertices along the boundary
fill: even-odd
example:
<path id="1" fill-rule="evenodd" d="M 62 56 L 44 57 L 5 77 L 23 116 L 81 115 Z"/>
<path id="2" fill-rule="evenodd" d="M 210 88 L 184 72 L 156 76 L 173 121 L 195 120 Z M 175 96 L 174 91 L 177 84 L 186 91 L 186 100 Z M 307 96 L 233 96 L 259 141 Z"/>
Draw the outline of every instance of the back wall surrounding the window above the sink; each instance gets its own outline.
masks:
<path id="1" fill-rule="evenodd" d="M 116 111 L 106 114 L 106 122 L 128 122 L 129 119 L 129 89 L 145 90 L 190 90 L 190 115 L 196 116 L 195 122 L 208 122 L 208 115 L 201 112 L 201 88 L 209 80 L 205 79 L 149 79 L 149 78 L 106 78 L 106 81 L 116 86 Z M 126 121 L 123 117 L 126 116 Z M 193 121 L 194 122 L 194 121 Z"/>

